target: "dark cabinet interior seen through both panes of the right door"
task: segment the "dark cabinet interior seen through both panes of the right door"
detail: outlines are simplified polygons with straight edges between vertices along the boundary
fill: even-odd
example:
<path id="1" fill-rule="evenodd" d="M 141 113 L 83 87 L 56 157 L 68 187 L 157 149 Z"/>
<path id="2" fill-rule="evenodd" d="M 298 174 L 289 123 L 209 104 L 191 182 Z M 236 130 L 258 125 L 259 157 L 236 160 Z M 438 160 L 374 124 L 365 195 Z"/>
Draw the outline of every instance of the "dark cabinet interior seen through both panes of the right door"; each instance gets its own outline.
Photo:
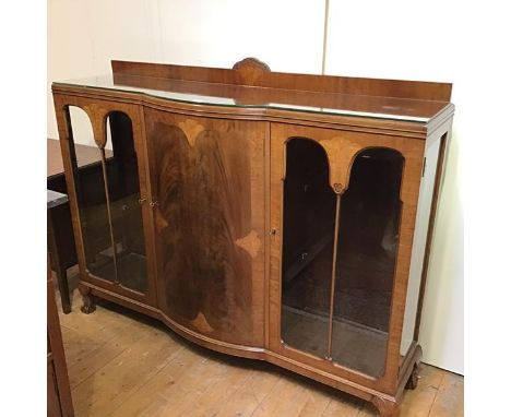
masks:
<path id="1" fill-rule="evenodd" d="M 402 170 L 399 152 L 364 150 L 353 162 L 347 190 L 337 196 L 321 145 L 302 138 L 287 142 L 281 323 L 285 344 L 372 377 L 383 374 Z"/>

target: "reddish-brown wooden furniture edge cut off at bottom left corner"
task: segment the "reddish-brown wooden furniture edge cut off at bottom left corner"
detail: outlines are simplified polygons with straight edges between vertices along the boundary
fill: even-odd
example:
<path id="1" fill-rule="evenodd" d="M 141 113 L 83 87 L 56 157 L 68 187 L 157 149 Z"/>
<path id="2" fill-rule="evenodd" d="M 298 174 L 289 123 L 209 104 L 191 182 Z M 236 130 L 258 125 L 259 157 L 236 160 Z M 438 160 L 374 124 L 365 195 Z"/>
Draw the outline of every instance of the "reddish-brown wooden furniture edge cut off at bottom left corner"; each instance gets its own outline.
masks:
<path id="1" fill-rule="evenodd" d="M 47 415 L 72 417 L 73 402 L 69 386 L 68 368 L 60 333 L 59 314 L 55 300 L 54 281 L 48 259 L 47 279 Z"/>

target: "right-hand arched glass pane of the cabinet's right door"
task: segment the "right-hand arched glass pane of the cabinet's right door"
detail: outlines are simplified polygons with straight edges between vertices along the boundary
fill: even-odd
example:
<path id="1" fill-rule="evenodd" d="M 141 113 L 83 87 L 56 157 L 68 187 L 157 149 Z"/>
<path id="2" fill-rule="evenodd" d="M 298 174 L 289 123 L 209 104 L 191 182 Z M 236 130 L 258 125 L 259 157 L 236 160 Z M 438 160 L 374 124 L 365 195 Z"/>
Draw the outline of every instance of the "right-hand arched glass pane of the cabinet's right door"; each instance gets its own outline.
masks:
<path id="1" fill-rule="evenodd" d="M 385 366 L 402 170 L 399 152 L 365 150 L 341 198 L 332 360 L 372 377 Z"/>

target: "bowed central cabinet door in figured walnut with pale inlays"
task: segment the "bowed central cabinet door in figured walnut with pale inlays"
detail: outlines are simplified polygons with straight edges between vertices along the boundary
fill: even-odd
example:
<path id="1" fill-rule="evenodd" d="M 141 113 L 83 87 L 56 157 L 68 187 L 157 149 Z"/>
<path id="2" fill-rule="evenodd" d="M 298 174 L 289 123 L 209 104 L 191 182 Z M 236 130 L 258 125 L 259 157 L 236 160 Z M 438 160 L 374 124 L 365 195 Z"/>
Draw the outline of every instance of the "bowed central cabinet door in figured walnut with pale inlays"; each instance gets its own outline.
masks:
<path id="1" fill-rule="evenodd" d="M 265 123 L 145 109 L 158 306 L 200 335 L 264 343 Z"/>

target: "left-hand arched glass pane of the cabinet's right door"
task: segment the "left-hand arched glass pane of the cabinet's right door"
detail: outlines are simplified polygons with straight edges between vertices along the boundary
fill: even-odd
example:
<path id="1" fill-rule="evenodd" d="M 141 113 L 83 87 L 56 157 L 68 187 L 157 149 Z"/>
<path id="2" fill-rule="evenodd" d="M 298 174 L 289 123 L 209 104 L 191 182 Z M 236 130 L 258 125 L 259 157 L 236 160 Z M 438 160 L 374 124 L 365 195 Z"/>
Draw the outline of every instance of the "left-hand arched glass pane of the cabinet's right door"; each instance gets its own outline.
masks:
<path id="1" fill-rule="evenodd" d="M 324 150 L 295 138 L 286 145 L 281 336 L 319 357 L 328 354 L 335 193 Z"/>

